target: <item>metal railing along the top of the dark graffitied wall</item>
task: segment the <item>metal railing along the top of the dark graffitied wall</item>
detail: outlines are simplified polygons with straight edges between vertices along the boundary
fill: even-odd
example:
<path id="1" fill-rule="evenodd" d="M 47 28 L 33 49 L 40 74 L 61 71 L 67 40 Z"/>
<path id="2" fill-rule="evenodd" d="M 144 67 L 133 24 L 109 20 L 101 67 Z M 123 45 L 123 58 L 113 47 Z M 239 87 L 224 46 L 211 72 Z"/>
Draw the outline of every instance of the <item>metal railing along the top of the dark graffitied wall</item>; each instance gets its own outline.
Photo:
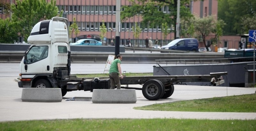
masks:
<path id="1" fill-rule="evenodd" d="M 220 63 L 232 63 L 232 62 L 243 62 L 251 60 L 253 57 L 239 57 L 239 58 L 220 58 L 220 59 L 156 59 L 156 65 L 160 62 L 166 62 L 173 64 L 220 64 Z"/>

